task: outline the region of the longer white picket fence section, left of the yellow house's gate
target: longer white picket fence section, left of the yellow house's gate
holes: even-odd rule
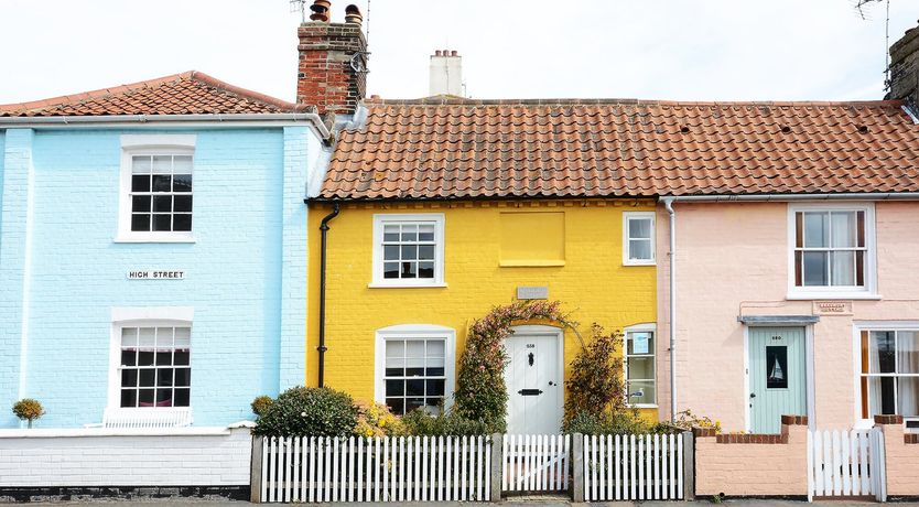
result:
[[[266,438],[260,501],[489,500],[486,436]]]

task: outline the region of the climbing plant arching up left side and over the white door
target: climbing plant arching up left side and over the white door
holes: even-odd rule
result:
[[[561,311],[559,301],[515,301],[494,308],[473,323],[466,336],[466,348],[460,357],[454,410],[465,418],[487,423],[491,431],[505,431],[507,354],[504,341],[510,336],[515,324],[534,321],[572,330],[577,326]]]

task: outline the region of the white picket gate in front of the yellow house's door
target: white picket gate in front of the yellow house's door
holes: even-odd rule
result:
[[[502,492],[566,492],[571,435],[506,434]]]

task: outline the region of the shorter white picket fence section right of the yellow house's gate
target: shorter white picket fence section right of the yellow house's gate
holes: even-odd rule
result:
[[[584,436],[584,499],[683,498],[683,435]]]

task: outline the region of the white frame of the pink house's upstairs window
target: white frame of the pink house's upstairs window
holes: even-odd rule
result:
[[[865,285],[810,285],[798,287],[794,281],[794,252],[797,249],[797,214],[802,212],[863,212],[865,214],[865,256],[864,277]],[[787,269],[788,269],[788,293],[787,300],[878,300],[877,294],[877,242],[874,203],[802,203],[788,205],[788,242]]]

